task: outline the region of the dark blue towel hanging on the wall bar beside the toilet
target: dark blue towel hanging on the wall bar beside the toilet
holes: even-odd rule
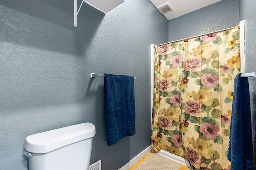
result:
[[[135,134],[134,77],[105,74],[105,127],[108,146]]]

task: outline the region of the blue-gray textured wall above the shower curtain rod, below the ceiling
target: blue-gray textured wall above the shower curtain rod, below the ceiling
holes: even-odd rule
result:
[[[239,0],[222,0],[169,21],[169,42],[234,27]]]

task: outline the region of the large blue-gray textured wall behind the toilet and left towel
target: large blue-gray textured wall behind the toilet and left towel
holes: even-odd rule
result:
[[[106,14],[73,0],[0,1],[0,169],[26,170],[28,135],[91,122],[91,163],[116,170],[150,145],[150,44],[168,41],[168,20],[149,0]],[[78,6],[80,2],[78,2]],[[136,76],[136,135],[108,147],[104,82],[90,72]]]

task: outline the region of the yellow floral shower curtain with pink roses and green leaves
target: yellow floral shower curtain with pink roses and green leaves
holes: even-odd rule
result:
[[[186,158],[194,170],[228,170],[239,28],[154,49],[152,151]]]

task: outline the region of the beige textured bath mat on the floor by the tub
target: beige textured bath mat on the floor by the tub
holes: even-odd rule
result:
[[[150,153],[134,170],[180,170],[178,162],[158,153]]]

